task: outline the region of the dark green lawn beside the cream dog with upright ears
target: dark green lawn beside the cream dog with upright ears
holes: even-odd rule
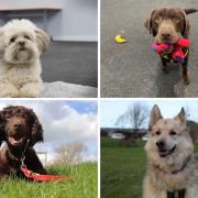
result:
[[[118,140],[101,138],[101,198],[142,197],[144,144],[136,141],[131,147],[119,147]]]

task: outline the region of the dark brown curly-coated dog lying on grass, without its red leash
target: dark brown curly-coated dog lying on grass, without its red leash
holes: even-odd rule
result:
[[[46,174],[33,148],[36,142],[43,141],[43,129],[32,109],[9,106],[0,111],[0,141],[6,141],[0,150],[0,178],[11,174],[23,176],[20,172],[21,162],[14,160],[12,155],[20,160],[26,145],[24,154],[26,167],[35,173]]]

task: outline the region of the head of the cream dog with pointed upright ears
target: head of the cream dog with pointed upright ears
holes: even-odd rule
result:
[[[184,109],[174,119],[163,119],[158,107],[153,107],[145,148],[148,156],[162,158],[193,152],[194,146],[186,130]]]

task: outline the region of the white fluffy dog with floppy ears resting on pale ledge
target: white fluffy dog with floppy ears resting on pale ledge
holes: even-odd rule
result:
[[[50,36],[31,21],[12,20],[0,29],[0,97],[38,97],[40,55]]]

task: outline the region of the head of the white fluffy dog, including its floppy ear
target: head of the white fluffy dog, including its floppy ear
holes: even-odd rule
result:
[[[0,53],[10,64],[35,62],[48,43],[48,35],[29,20],[10,21],[0,30]]]

